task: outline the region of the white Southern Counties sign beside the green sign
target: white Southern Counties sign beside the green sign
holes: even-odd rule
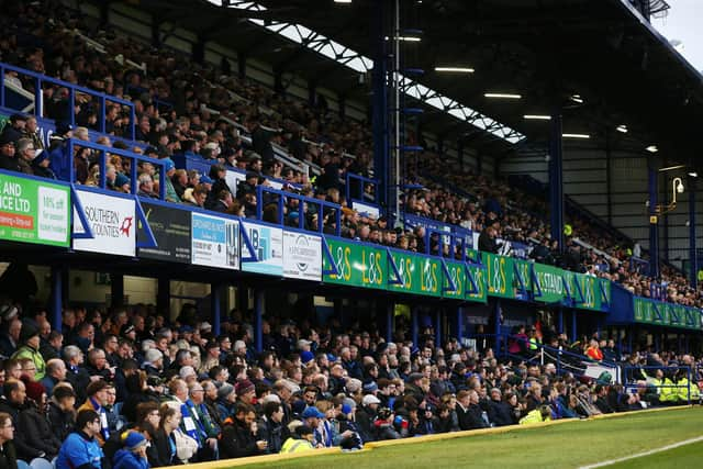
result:
[[[93,237],[74,238],[74,249],[134,256],[136,246],[134,200],[80,189],[76,193]],[[74,234],[82,232],[82,226],[78,222],[78,213],[74,209]]]

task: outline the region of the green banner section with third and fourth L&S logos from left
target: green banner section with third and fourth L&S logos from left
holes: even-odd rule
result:
[[[442,294],[443,272],[439,259],[394,249],[391,250],[391,257],[398,267],[402,282],[389,284],[388,290],[428,297]],[[394,273],[391,273],[390,265],[388,272],[389,280],[399,280],[394,278]]]

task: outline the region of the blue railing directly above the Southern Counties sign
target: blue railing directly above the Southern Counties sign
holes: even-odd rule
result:
[[[138,192],[138,174],[137,165],[140,163],[150,163],[154,167],[158,168],[159,185],[158,185],[158,198],[159,200],[166,200],[166,167],[164,160],[149,158],[148,156],[138,155],[136,153],[126,152],[119,148],[112,148],[104,145],[99,145],[92,142],[83,142],[75,138],[69,138],[67,142],[68,155],[70,158],[74,156],[75,148],[90,148],[98,153],[98,164],[100,165],[100,179],[98,187],[101,189],[108,189],[107,171],[108,155],[118,155],[121,158],[130,160],[130,193],[136,194]],[[125,175],[126,176],[126,175]],[[71,183],[76,183],[76,168],[71,161],[70,165],[70,180]]]

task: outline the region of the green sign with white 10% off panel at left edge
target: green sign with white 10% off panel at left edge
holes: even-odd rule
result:
[[[68,247],[70,190],[0,175],[0,239]]]

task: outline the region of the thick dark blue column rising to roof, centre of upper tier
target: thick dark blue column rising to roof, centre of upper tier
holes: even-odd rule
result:
[[[371,9],[371,43],[373,44],[373,70],[371,74],[371,119],[373,131],[373,174],[380,180],[380,190],[377,191],[378,203],[387,208],[390,202],[392,189],[391,164],[389,152],[389,107],[388,89],[386,80],[388,76],[388,51],[386,36],[389,18],[389,2],[380,1],[377,8]]]

